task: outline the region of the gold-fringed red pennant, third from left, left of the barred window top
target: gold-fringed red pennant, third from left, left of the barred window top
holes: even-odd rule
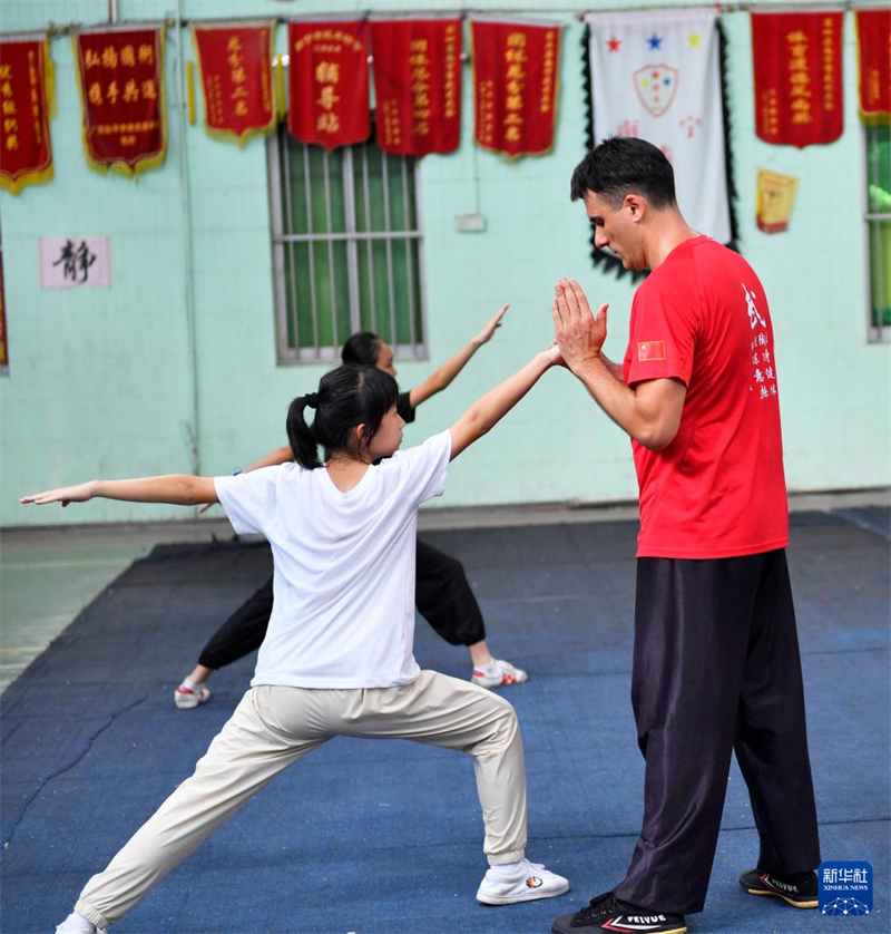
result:
[[[237,139],[275,127],[272,90],[274,22],[202,23],[192,27],[210,136]]]

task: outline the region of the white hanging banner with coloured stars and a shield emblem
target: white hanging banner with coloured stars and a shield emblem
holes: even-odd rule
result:
[[[733,242],[717,11],[591,13],[593,143],[633,136],[672,163],[687,223]],[[617,264],[594,247],[595,262]]]

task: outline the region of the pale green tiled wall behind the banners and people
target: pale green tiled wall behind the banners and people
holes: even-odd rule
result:
[[[175,14],[175,2],[119,0],[121,19]],[[306,13],[315,10],[456,9],[456,2],[187,0],[183,16]],[[547,3],[487,3],[566,22],[557,140],[540,158],[506,159],[472,145],[464,72],[459,150],[422,163],[429,362],[400,366],[411,386],[454,352],[503,301],[505,327],[408,431],[414,444],[446,427],[492,381],[550,340],[549,293],[574,275],[593,301],[609,301],[607,349],[620,358],[633,286],[594,271],[588,224],[568,200],[584,155],[581,25]],[[551,4],[557,6],[557,4]],[[579,11],[596,3],[560,2]],[[638,0],[624,6],[654,6]],[[665,3],[664,6],[674,6]],[[106,0],[4,0],[3,30],[49,21],[95,23]],[[862,138],[855,108],[853,26],[845,22],[845,132],[803,152],[755,138],[747,13],[723,18],[731,43],[730,107],[737,216],[744,255],[770,295],[776,330],[793,490],[889,483],[889,346],[866,342]],[[187,33],[184,33],[187,38]],[[284,51],[285,29],[277,33]],[[138,183],[101,176],[85,162],[68,39],[51,43],[58,116],[56,178],[0,196],[11,367],[0,377],[0,524],[151,519],[184,510],[96,502],[65,513],[17,505],[29,492],[94,476],[187,471],[197,438],[204,473],[227,471],[282,444],[288,400],[314,388],[323,368],[277,367],[273,319],[266,156],[262,140],[239,150],[186,128],[196,353],[186,303],[186,220],[180,175],[176,29],[167,39],[169,146],[163,168]],[[193,57],[190,45],[185,56]],[[754,224],[758,166],[801,178],[786,234]],[[479,210],[482,234],[459,234],[454,215]],[[37,239],[109,234],[112,288],[41,291]],[[197,387],[197,391],[194,391]],[[194,417],[197,400],[197,430]],[[507,422],[456,461],[447,506],[564,499],[630,499],[636,485],[626,437],[565,372],[549,373]]]

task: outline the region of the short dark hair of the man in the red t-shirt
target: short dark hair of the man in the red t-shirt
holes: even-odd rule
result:
[[[594,192],[618,207],[629,192],[642,194],[654,207],[673,207],[675,174],[665,154],[646,139],[610,136],[588,153],[572,173],[570,197]]]

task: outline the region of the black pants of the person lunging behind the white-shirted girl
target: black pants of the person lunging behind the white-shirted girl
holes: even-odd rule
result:
[[[480,605],[461,562],[418,539],[414,603],[433,630],[452,645],[486,639]],[[260,648],[272,614],[272,577],[210,636],[198,664],[218,669]]]

